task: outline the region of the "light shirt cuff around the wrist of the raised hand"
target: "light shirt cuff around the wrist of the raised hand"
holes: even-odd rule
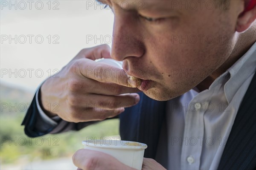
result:
[[[36,91],[36,94],[35,94],[35,101],[36,101],[36,106],[37,106],[37,109],[38,109],[38,112],[41,116],[41,118],[47,122],[49,125],[51,126],[57,126],[58,123],[56,121],[58,121],[59,119],[61,119],[59,116],[53,116],[53,117],[49,117],[47,116],[44,111],[42,110],[41,106],[40,106],[40,103],[39,103],[39,99],[38,99],[38,94],[39,94],[39,91],[40,91],[40,88],[41,86],[38,88],[38,90]]]

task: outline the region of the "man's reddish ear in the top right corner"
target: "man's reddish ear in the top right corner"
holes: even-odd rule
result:
[[[245,0],[244,11],[239,15],[236,23],[236,31],[243,32],[256,19],[256,0]]]

